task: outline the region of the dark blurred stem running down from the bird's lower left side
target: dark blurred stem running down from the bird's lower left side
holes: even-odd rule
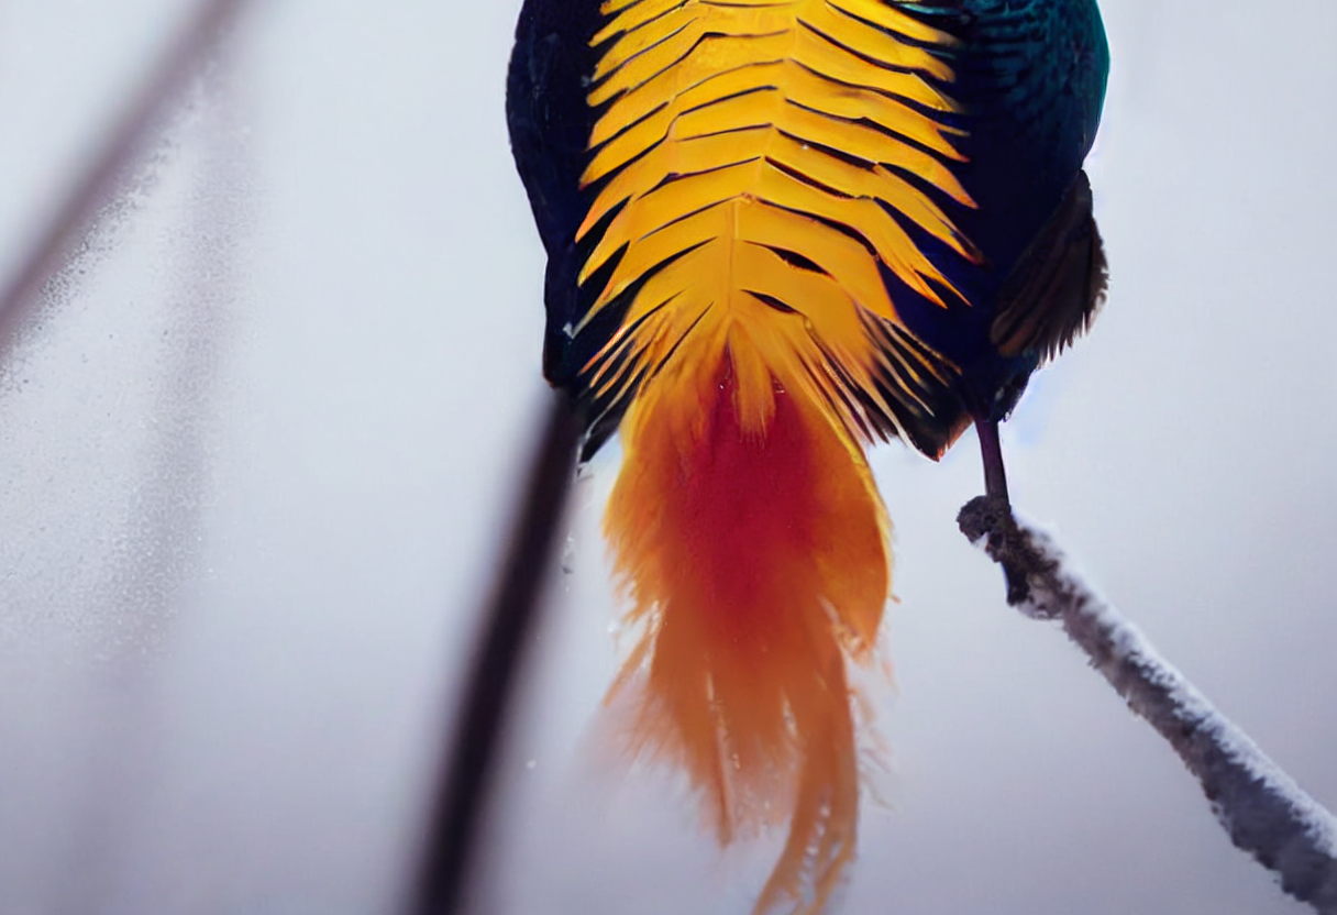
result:
[[[464,907],[503,724],[575,475],[580,423],[568,397],[554,395],[544,427],[441,765],[412,915],[455,915]]]

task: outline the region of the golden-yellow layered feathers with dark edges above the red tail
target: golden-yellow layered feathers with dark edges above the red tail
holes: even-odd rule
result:
[[[592,385],[616,400],[689,368],[674,359],[745,341],[731,350],[754,428],[770,415],[771,375],[850,428],[866,429],[858,404],[898,425],[886,396],[927,411],[917,392],[953,368],[905,330],[881,268],[929,301],[955,293],[902,221],[973,256],[923,185],[971,205],[953,130],[933,116],[955,108],[941,88],[952,71],[933,54],[953,39],[881,0],[602,9],[582,178],[595,199],[578,239],[594,242],[580,281],[608,278],[586,322],[632,301],[587,367]],[[698,344],[685,348],[689,334]],[[897,383],[880,391],[878,376]]]

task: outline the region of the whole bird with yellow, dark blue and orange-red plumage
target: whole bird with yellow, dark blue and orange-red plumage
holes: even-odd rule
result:
[[[543,371],[583,460],[622,445],[607,706],[722,845],[786,831],[758,915],[828,911],[854,860],[852,669],[892,595],[866,448],[973,424],[1007,503],[999,424],[1104,301],[1108,68],[1095,0],[524,0]]]

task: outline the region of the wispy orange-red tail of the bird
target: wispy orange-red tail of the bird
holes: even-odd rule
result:
[[[889,526],[860,443],[734,340],[640,392],[604,530],[643,626],[610,698],[722,844],[789,824],[757,912],[818,912],[854,853],[846,659],[868,661]]]

